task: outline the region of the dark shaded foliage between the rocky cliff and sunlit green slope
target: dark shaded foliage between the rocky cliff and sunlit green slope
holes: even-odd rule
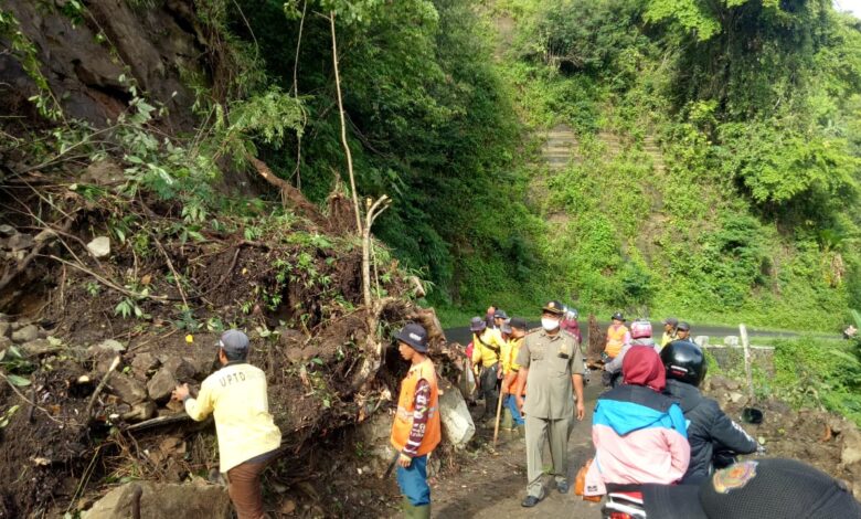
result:
[[[351,6],[352,19],[336,24],[358,191],[394,199],[376,235],[436,285],[438,301],[525,282],[535,258],[524,178],[510,172],[518,121],[488,60],[488,27],[464,0]],[[230,17],[234,33],[258,44],[272,84],[288,91],[296,73],[308,114],[301,150],[298,138],[261,150],[315,201],[346,174],[327,7],[297,3],[286,17],[281,1],[245,0],[244,17]]]

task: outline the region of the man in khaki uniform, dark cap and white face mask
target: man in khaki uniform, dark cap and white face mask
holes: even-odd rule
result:
[[[560,329],[564,307],[559,301],[544,305],[541,328],[530,331],[520,348],[517,363],[518,407],[527,419],[527,498],[521,504],[534,507],[544,498],[541,459],[544,442],[550,445],[552,475],[560,494],[568,491],[568,424],[574,415],[576,393],[577,420],[583,420],[583,356],[576,338]],[[521,394],[529,385],[525,404]],[[573,391],[572,391],[573,389]]]

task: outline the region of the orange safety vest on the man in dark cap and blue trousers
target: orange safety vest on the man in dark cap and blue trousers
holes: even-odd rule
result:
[[[417,455],[424,456],[439,444],[442,427],[439,425],[439,391],[436,383],[436,371],[431,359],[410,368],[401,383],[401,395],[397,398],[397,413],[392,424],[392,446],[398,452],[404,449],[410,439],[410,431],[413,428],[413,412],[415,411],[415,388],[419,380],[426,380],[431,384],[431,402],[427,410],[427,424]]]

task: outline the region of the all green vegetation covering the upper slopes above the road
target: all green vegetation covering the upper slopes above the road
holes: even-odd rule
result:
[[[71,6],[67,17],[86,14]],[[195,8],[217,42],[210,76],[184,74],[196,135],[158,137],[161,105],[124,78],[131,106],[113,127],[62,119],[51,140],[33,139],[54,163],[70,149],[97,158],[94,131],[107,134],[98,141],[123,153],[124,194],[178,201],[183,241],[244,218],[237,206],[266,212],[215,188],[256,174],[249,157],[315,203],[347,179],[331,15],[357,191],[393,199],[374,232],[390,261],[431,282],[447,322],[490,303],[530,313],[559,298],[584,314],[836,330],[861,307],[861,22],[828,0]],[[33,102],[61,125],[38,54],[6,11],[0,31],[38,83]],[[560,124],[575,152],[552,169],[542,135]],[[134,232],[142,223],[124,218],[113,234],[147,254],[151,241]],[[246,239],[266,225],[247,220]],[[137,314],[129,297],[117,313]]]

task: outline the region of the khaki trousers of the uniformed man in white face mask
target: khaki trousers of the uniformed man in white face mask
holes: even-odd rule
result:
[[[568,472],[568,423],[571,419],[546,420],[527,414],[527,494],[539,499],[544,497],[542,454],[544,441],[550,446],[553,462],[551,475],[556,483],[567,481]]]

